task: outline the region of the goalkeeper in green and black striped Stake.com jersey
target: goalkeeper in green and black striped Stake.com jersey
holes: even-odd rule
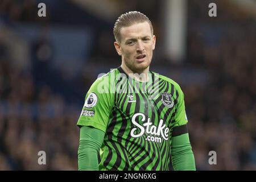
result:
[[[150,71],[156,37],[146,15],[119,16],[114,47],[121,66],[97,78],[85,97],[79,170],[195,170],[184,94]]]

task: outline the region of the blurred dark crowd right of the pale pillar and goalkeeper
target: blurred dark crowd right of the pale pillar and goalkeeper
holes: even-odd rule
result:
[[[197,9],[190,17],[206,11],[199,1],[190,3]],[[197,17],[189,24],[205,30],[210,23],[213,37],[189,32],[189,63],[211,76],[205,85],[183,85],[190,137],[198,169],[256,170],[255,18],[230,3],[224,7],[230,8],[218,5],[221,18]],[[216,151],[217,165],[209,165],[209,151]]]

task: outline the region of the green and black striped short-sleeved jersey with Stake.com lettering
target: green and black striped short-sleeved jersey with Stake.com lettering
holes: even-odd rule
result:
[[[184,95],[170,78],[148,73],[147,82],[122,68],[97,78],[77,122],[105,132],[100,170],[168,170],[172,130],[185,125]]]

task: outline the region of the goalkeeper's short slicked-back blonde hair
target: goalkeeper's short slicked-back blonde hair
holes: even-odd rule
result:
[[[128,13],[124,13],[121,16],[118,17],[118,19],[115,21],[113,34],[115,37],[115,40],[117,42],[120,42],[120,30],[122,27],[129,27],[135,23],[143,23],[148,22],[150,24],[151,34],[153,35],[153,27],[150,19],[147,18],[146,15],[139,11],[129,11]]]

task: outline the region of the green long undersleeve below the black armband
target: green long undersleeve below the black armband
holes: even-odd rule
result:
[[[188,133],[172,138],[172,167],[175,171],[195,171],[195,158]]]

